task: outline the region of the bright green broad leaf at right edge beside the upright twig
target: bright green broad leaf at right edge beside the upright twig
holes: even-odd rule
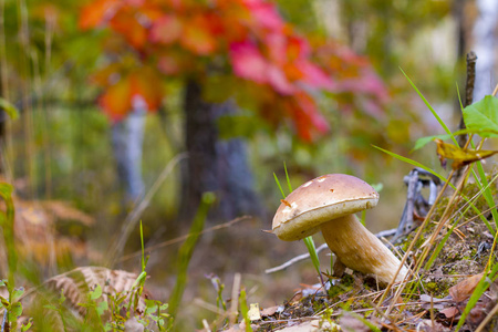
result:
[[[481,131],[481,137],[498,137],[498,98],[487,95],[464,108],[467,128]]]

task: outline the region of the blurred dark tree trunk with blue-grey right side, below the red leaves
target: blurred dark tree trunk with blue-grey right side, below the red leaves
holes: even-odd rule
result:
[[[200,85],[190,80],[184,108],[188,158],[183,168],[181,217],[193,217],[205,191],[214,191],[218,198],[211,214],[214,219],[227,220],[241,214],[261,216],[246,143],[240,138],[218,139],[217,118],[237,113],[236,104],[205,102]]]

